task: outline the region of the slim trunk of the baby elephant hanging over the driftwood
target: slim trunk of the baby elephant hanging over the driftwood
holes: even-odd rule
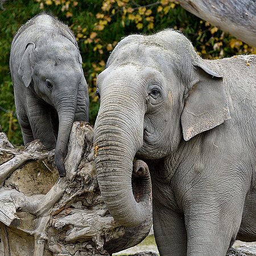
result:
[[[76,97],[76,93],[73,92],[72,97],[69,97],[68,100],[62,98],[62,100],[59,101],[60,103],[56,105],[56,110],[59,115],[59,131],[55,148],[55,163],[60,177],[66,176],[64,159],[67,154],[69,135],[75,118]]]

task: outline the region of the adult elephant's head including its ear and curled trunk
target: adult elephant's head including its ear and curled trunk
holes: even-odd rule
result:
[[[121,224],[139,225],[148,213],[148,183],[134,199],[135,156],[164,158],[229,118],[220,77],[177,31],[127,36],[115,47],[97,78],[94,156],[102,196]]]

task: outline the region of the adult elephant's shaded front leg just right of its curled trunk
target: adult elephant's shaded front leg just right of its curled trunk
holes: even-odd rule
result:
[[[183,214],[172,212],[153,202],[153,225],[160,255],[187,254],[187,233]]]

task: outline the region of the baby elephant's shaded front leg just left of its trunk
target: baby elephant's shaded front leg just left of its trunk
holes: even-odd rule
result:
[[[56,138],[51,124],[51,112],[42,102],[31,101],[28,106],[30,124],[35,139],[39,139],[47,150],[56,146]]]

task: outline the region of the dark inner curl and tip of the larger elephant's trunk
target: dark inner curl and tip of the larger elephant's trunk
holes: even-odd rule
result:
[[[137,203],[147,200],[151,196],[151,179],[147,164],[137,160],[133,164],[133,175],[131,176],[133,196]]]

